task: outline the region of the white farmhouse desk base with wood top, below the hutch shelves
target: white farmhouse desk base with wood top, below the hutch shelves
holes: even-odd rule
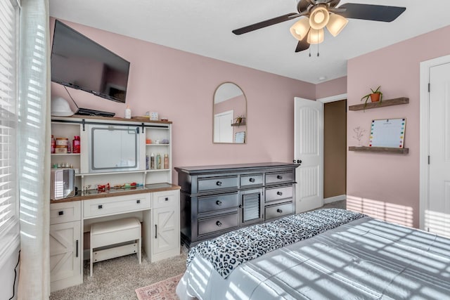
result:
[[[51,292],[83,282],[89,238],[82,237],[89,237],[91,223],[136,216],[142,222],[143,250],[150,262],[179,255],[179,203],[179,186],[168,183],[51,202]]]

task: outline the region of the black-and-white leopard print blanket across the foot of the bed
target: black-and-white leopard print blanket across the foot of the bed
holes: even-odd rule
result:
[[[202,256],[227,278],[241,263],[364,217],[345,209],[319,209],[225,233],[191,248],[187,266]]]

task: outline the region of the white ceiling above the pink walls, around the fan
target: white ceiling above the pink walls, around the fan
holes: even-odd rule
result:
[[[309,50],[295,53],[297,41],[289,32],[299,19],[231,33],[296,13],[296,0],[49,0],[55,18],[313,84],[346,76],[349,58],[450,25],[449,0],[342,0],[338,7],[347,2],[406,11],[393,22],[349,19],[338,37],[326,31],[320,56],[312,45],[309,57]]]

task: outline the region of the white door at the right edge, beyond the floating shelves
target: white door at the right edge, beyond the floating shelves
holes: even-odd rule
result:
[[[425,228],[450,237],[450,63],[430,67],[429,155]]]

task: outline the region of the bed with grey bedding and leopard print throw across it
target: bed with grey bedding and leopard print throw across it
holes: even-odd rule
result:
[[[450,240],[353,211],[319,209],[192,247],[176,294],[181,300],[450,299]]]

